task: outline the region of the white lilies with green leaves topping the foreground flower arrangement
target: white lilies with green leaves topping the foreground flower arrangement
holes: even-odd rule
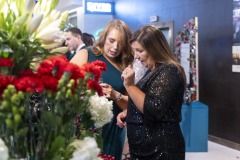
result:
[[[57,4],[58,0],[39,0],[36,4],[33,0],[0,0],[0,57],[15,62],[13,74],[28,68],[33,58],[67,51],[61,47],[61,28],[68,12],[54,10]]]

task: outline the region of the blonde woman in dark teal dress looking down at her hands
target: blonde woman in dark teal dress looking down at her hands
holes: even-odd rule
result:
[[[106,72],[102,73],[102,88],[104,96],[113,100],[112,121],[102,129],[103,154],[110,154],[121,160],[125,140],[125,129],[116,125],[116,116],[126,109],[128,97],[123,86],[121,74],[133,62],[133,54],[129,40],[131,31],[121,20],[112,20],[104,28],[96,46],[80,50],[71,60],[79,66],[94,60],[104,61]]]

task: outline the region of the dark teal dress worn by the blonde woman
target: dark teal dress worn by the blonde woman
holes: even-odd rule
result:
[[[100,60],[106,63],[107,70],[102,72],[103,82],[111,85],[114,90],[124,93],[125,87],[121,79],[121,72],[116,69],[108,60],[103,56],[95,56],[93,52],[99,52],[96,47],[87,48],[88,50],[88,62]],[[113,118],[110,123],[106,124],[102,128],[103,138],[103,154],[110,154],[114,156],[116,160],[121,160],[124,141],[125,141],[125,129],[116,125],[117,115],[122,111],[115,102],[113,102]]]

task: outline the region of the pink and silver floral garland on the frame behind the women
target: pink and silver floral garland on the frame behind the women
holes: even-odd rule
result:
[[[180,31],[176,37],[176,48],[175,48],[175,56],[178,58],[178,60],[181,60],[181,44],[189,43],[190,44],[190,58],[188,59],[190,61],[190,84],[188,84],[187,92],[186,94],[189,94],[188,101],[194,101],[196,100],[196,90],[197,90],[197,66],[196,66],[196,33],[197,33],[197,25],[195,18],[190,19],[188,22],[186,22],[183,26],[183,30]],[[188,73],[186,73],[188,74]]]

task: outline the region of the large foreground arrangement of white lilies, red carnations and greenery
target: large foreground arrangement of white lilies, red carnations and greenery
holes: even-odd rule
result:
[[[62,55],[67,12],[57,2],[0,1],[0,159],[102,156],[101,127],[112,118],[98,83],[106,64],[79,67]]]

